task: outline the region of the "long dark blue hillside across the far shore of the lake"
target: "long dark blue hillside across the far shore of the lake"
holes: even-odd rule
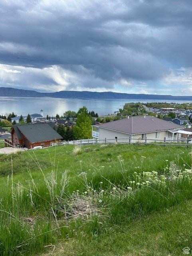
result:
[[[91,98],[91,99],[138,99],[138,100],[188,100],[192,101],[192,96],[172,96],[155,94],[127,94],[117,92],[36,92],[32,90],[22,90],[15,88],[0,87],[0,96],[9,97],[52,97],[52,98]]]

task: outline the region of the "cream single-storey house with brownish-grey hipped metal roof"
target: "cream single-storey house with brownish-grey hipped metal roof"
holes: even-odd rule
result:
[[[121,120],[92,126],[92,136],[103,142],[130,142],[148,140],[177,140],[184,127],[153,116],[131,116]]]

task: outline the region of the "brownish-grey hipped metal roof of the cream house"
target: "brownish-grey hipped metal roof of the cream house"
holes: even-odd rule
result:
[[[178,124],[173,124],[153,116],[131,116],[95,126],[128,134],[143,134],[183,128]]]

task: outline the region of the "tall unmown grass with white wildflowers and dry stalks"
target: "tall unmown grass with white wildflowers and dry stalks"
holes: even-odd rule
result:
[[[152,154],[157,150],[161,156]],[[11,175],[0,186],[0,255],[36,254],[59,239],[99,236],[113,225],[123,229],[135,218],[191,199],[191,154],[177,151],[117,144],[85,147],[79,154],[63,147],[58,155],[63,152],[65,161],[50,149],[44,170],[42,150],[27,155],[38,172],[28,169],[23,181],[14,176],[13,157]]]

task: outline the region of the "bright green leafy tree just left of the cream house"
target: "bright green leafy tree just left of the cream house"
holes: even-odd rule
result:
[[[79,108],[79,111],[77,112],[77,121],[73,129],[77,140],[92,137],[91,116],[89,116],[85,106]]]

